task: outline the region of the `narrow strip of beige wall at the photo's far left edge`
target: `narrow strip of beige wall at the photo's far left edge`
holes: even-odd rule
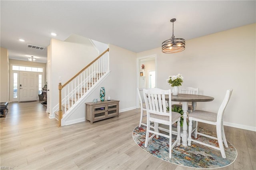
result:
[[[9,101],[9,61],[8,51],[1,47],[0,56],[0,102]]]

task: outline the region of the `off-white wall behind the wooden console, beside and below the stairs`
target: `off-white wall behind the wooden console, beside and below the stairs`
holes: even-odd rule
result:
[[[93,99],[100,101],[100,87],[105,87],[105,100],[110,95],[112,100],[119,100],[120,112],[136,107],[136,53],[109,45],[110,75],[92,92],[84,103]],[[85,120],[85,105],[76,109],[67,121]]]

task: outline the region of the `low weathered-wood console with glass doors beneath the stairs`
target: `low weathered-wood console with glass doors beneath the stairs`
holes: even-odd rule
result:
[[[86,121],[90,124],[110,117],[119,117],[119,101],[98,101],[97,103],[85,103]]]

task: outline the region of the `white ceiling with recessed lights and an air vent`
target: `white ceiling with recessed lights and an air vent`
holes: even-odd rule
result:
[[[256,22],[256,1],[0,1],[1,47],[10,59],[46,63],[51,38],[77,34],[134,52],[172,36],[190,40]],[[57,36],[51,36],[51,32]],[[240,38],[238,36],[238,38]],[[20,42],[24,39],[25,42]],[[27,44],[46,47],[31,49]]]

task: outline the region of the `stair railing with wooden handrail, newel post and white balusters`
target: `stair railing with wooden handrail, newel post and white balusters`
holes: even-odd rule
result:
[[[61,127],[62,102],[70,109],[105,73],[109,71],[109,48],[63,85],[59,83],[58,127]],[[62,95],[64,97],[62,98]]]

